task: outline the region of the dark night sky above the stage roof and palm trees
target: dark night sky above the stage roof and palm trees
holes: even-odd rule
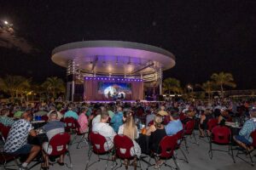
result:
[[[14,24],[14,41],[21,42],[0,47],[0,76],[65,78],[66,70],[50,60],[53,48],[83,39],[120,40],[171,51],[177,65],[164,76],[183,85],[229,71],[237,88],[256,86],[255,0],[9,0],[0,3],[0,20]],[[29,52],[23,50],[28,44]]]

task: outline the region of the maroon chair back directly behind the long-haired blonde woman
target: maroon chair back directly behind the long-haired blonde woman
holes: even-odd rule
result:
[[[119,156],[122,159],[128,159],[131,158],[131,147],[133,147],[132,140],[125,136],[117,134],[113,138],[113,144],[116,150],[116,155]]]

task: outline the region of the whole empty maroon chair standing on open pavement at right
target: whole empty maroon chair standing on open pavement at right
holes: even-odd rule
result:
[[[234,163],[236,163],[234,154],[233,154],[232,144],[231,144],[231,131],[229,127],[224,127],[224,126],[213,127],[209,144],[210,144],[210,150],[208,151],[208,153],[211,159],[212,159],[212,151],[213,151],[212,144],[228,145],[229,146],[228,151],[226,150],[218,150],[218,151],[228,152],[229,154],[231,151],[231,157]]]

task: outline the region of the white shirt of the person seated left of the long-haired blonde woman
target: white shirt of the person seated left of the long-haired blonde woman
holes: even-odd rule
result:
[[[100,133],[104,136],[107,142],[104,144],[104,150],[109,150],[113,148],[113,137],[116,133],[113,131],[113,127],[110,127],[108,123],[105,122],[96,122],[92,124],[92,132]]]

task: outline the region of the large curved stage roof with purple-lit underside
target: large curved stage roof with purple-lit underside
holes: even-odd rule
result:
[[[175,65],[175,56],[163,48],[121,41],[67,43],[55,48],[51,59],[63,67],[74,60],[82,72],[102,75],[147,75]]]

